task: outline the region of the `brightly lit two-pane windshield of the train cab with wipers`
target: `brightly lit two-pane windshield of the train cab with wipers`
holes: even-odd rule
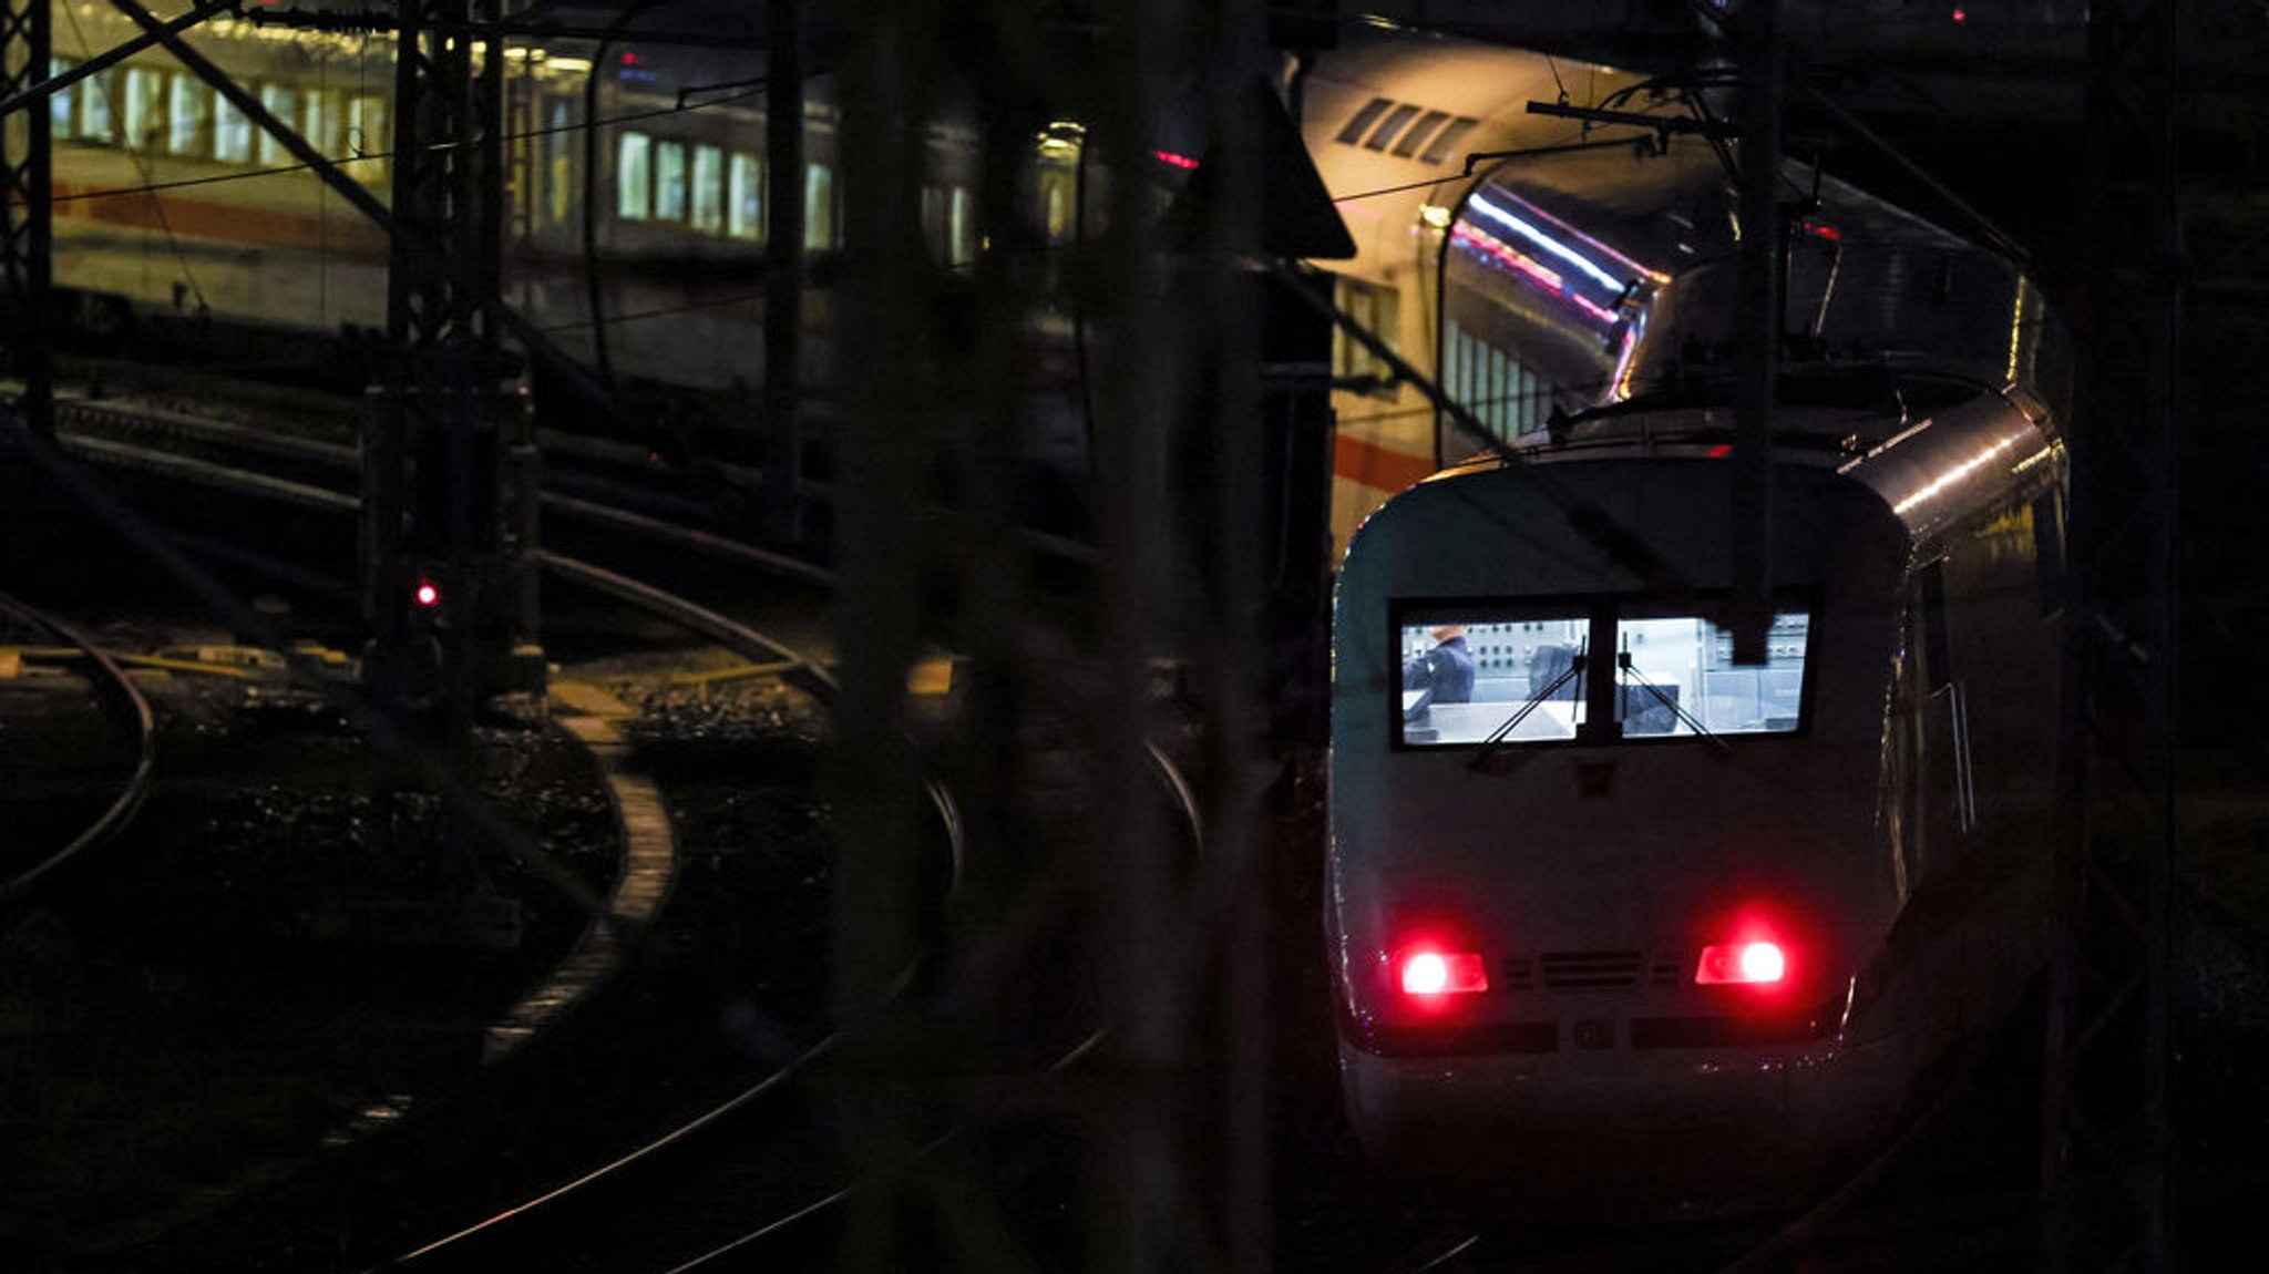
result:
[[[1795,732],[1811,608],[1774,610],[1765,664],[1736,664],[1720,619],[1722,608],[1709,603],[1613,598],[1398,608],[1395,741],[1470,748]]]

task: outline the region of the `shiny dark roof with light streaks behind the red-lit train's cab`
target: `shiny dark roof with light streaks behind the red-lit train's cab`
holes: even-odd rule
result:
[[[1781,175],[1777,360],[1797,406],[1872,397],[1904,415],[1940,383],[2063,401],[2067,338],[2017,263],[1808,163]],[[1566,413],[1731,401],[1740,238],[1738,184],[1706,138],[1509,159],[1454,213],[1448,317],[1518,351]]]

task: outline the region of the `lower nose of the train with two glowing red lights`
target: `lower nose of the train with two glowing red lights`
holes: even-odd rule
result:
[[[1595,886],[1493,880],[1384,918],[1341,1020],[1375,1158],[1525,1215],[1684,1217],[1793,1206],[1883,1136],[1901,1043],[1845,1038],[1827,902],[1593,861]]]

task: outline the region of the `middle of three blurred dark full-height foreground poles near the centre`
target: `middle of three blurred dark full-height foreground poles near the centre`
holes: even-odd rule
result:
[[[1155,705],[1150,657],[1159,630],[1169,564],[1178,535],[1175,490],[1166,483],[1166,440],[1175,406],[1191,385],[1187,349],[1166,311],[1166,270],[1157,211],[1141,175],[1144,145],[1157,127],[1157,93],[1173,50],[1189,34],[1189,5],[1164,0],[1139,16],[1119,11],[1103,29],[1096,79],[1096,127],[1110,184],[1105,220],[1114,252],[1098,261],[1098,301],[1110,304],[1096,351],[1094,474],[1098,540],[1096,580],[1105,698],[1094,721],[1100,793],[1089,889],[1103,920],[1098,1002],[1107,1022],[1107,1070],[1114,1099],[1091,1109],[1096,1165],[1087,1186],[1089,1267],[1098,1274],[1150,1274],[1196,1267],[1191,1181],[1180,1161],[1187,1133],[1178,1104],[1189,1061],[1187,1002],[1193,916],[1178,902],[1159,802],[1146,784]]]

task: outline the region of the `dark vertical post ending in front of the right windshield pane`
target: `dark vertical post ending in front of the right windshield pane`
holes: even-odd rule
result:
[[[1734,422],[1734,662],[1763,664],[1772,628],[1772,394],[1781,345],[1781,32],[1779,0],[1743,0],[1740,338]]]

